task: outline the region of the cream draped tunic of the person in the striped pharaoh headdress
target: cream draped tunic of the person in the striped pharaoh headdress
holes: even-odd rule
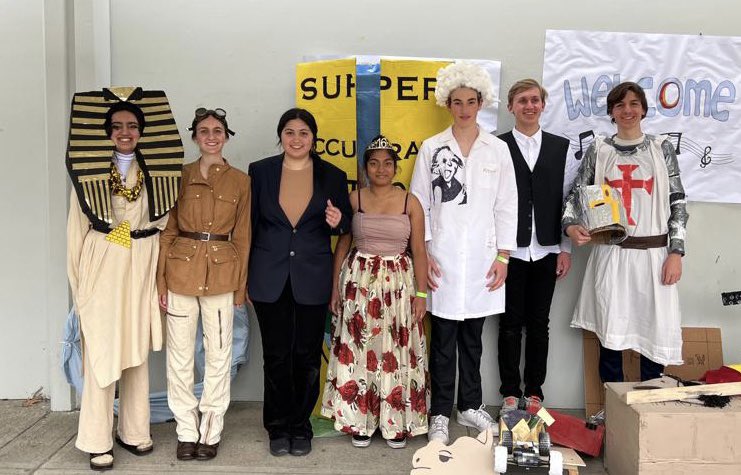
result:
[[[127,185],[136,183],[139,166],[131,164]],[[131,186],[131,185],[128,185]],[[129,221],[131,229],[160,230],[169,215],[149,221],[147,188],[133,202],[111,196],[112,227]],[[132,239],[131,248],[106,240],[90,228],[72,190],[67,221],[67,275],[89,352],[85,359],[99,387],[121,377],[121,371],[141,365],[152,348],[162,348],[162,324],[157,300],[159,234]]]

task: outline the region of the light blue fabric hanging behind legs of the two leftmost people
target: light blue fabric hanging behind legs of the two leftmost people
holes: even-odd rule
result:
[[[253,314],[251,306],[241,305],[234,307],[234,333],[232,336],[232,367],[231,379],[237,376],[239,368],[249,361],[250,320]],[[203,379],[205,368],[205,349],[203,347],[203,326],[199,319],[196,332],[196,355],[195,364],[200,379]],[[82,351],[80,343],[79,319],[75,314],[74,307],[67,315],[67,323],[64,327],[64,341],[62,341],[62,371],[67,382],[75,387],[77,394],[82,394]],[[203,394],[203,383],[198,382],[193,386],[193,393],[197,399]],[[167,406],[167,391],[151,393],[149,395],[150,420],[152,423],[166,422],[173,418],[170,408]],[[113,402],[113,412],[118,414],[118,399]]]

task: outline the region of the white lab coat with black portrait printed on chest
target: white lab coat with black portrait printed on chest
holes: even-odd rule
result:
[[[459,166],[450,168],[445,147]],[[486,274],[498,251],[517,248],[517,183],[507,145],[479,131],[463,157],[449,127],[422,143],[411,191],[422,204],[428,252],[442,273],[437,290],[428,292],[427,309],[449,320],[502,313],[504,286],[490,292]]]

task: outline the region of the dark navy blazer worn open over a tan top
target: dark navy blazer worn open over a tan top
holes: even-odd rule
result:
[[[345,172],[314,157],[314,191],[296,227],[278,202],[283,154],[251,163],[252,249],[248,291],[250,299],[278,300],[291,279],[293,297],[303,305],[329,303],[332,292],[330,236],[350,231],[352,207]],[[331,229],[325,221],[327,200],[342,211]]]

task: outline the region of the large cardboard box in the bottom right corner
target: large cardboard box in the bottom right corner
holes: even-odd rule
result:
[[[608,383],[605,468],[610,475],[741,473],[741,397],[723,409],[680,402],[634,404],[632,383]]]

